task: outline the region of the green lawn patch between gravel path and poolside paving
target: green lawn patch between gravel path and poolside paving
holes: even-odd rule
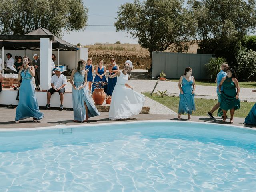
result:
[[[147,97],[159,102],[160,104],[170,108],[171,110],[178,113],[179,101],[180,98],[176,96],[164,96],[163,98],[160,95],[154,93],[152,96],[150,93],[144,93]],[[195,116],[207,116],[207,113],[212,109],[212,107],[217,103],[217,100],[214,99],[202,99],[195,98],[196,111],[192,113]],[[240,102],[240,109],[236,110],[234,117],[243,117],[245,118],[250,112],[254,102]],[[214,112],[213,116],[217,116],[217,111]],[[230,112],[228,112],[230,116]]]

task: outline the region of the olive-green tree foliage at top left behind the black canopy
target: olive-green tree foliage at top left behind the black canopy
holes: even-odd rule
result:
[[[22,35],[39,27],[61,37],[62,30],[84,30],[88,8],[82,0],[1,0],[0,34]]]

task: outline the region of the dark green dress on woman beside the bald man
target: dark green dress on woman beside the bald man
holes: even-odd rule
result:
[[[232,78],[227,77],[226,80],[224,80],[223,84],[223,90],[221,92],[221,103],[220,103],[220,108],[218,110],[218,116],[222,116],[223,110],[230,110],[230,109],[235,109],[238,110],[240,109],[240,100],[236,99],[236,85],[232,81]]]

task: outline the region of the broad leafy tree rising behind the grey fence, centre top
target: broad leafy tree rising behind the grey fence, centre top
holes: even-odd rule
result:
[[[138,43],[152,51],[164,51],[171,44],[182,46],[179,42],[188,40],[189,22],[182,8],[183,0],[145,0],[126,3],[119,7],[116,31],[126,31],[138,39]]]

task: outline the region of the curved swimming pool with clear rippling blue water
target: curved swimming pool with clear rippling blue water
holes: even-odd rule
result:
[[[0,131],[0,191],[255,191],[255,138],[175,121]]]

